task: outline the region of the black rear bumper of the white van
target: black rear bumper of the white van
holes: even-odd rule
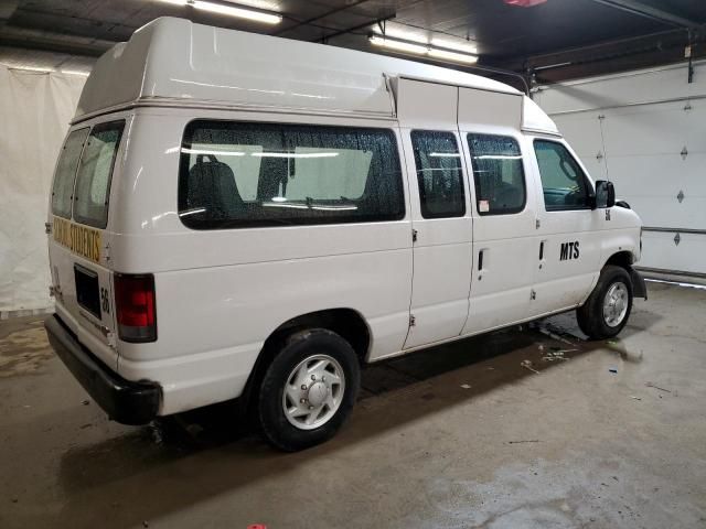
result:
[[[83,347],[56,315],[44,321],[49,342],[108,417],[122,424],[147,424],[159,412],[162,388],[157,382],[125,380]]]

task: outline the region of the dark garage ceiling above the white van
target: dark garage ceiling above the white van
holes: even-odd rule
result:
[[[706,34],[706,1],[696,0],[547,0],[533,8],[511,7],[503,0],[237,3],[281,13],[284,20],[276,26],[263,26],[159,0],[4,0],[0,6],[0,45],[6,51],[0,58],[10,55],[11,48],[50,52],[54,58],[97,56],[161,15],[379,53],[366,35],[378,21],[386,20],[389,28],[410,35],[469,41],[481,54],[480,64],[515,71],[538,67],[535,75],[566,78],[677,61],[688,42],[694,44],[694,55],[700,55]],[[680,28],[674,19],[691,28]],[[611,44],[617,40],[623,43],[618,50]],[[591,47],[586,51],[585,46]],[[31,61],[36,63],[36,57]],[[545,68],[549,63],[570,64]]]

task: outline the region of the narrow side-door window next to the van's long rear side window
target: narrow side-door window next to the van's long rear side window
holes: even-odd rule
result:
[[[424,218],[466,215],[461,155],[451,132],[414,130],[419,201]]]

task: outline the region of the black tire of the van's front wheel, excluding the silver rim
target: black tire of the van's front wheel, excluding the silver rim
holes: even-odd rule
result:
[[[609,290],[617,283],[622,283],[628,291],[628,310],[616,325],[609,325],[603,315],[603,302]],[[588,296],[586,303],[576,310],[576,320],[581,332],[591,339],[606,339],[617,336],[628,323],[632,311],[632,281],[624,268],[608,264],[598,278],[598,283]]]

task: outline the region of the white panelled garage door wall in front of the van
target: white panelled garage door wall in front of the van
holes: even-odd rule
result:
[[[684,63],[552,85],[534,99],[642,217],[640,266],[706,278],[706,63],[691,84]]]

